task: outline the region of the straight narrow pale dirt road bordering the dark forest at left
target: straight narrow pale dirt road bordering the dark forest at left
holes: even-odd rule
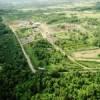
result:
[[[34,66],[33,66],[33,64],[32,64],[32,62],[31,62],[31,60],[30,60],[30,57],[29,57],[29,55],[26,53],[26,51],[25,51],[25,49],[24,49],[24,47],[23,47],[23,45],[22,45],[22,43],[21,43],[21,41],[20,41],[20,39],[19,39],[17,33],[15,32],[15,29],[14,29],[12,26],[9,26],[9,27],[10,27],[10,29],[12,29],[14,35],[16,36],[16,38],[17,38],[17,40],[18,40],[18,42],[19,42],[19,44],[20,44],[20,47],[21,47],[21,49],[22,49],[22,52],[23,52],[23,54],[24,54],[24,56],[25,56],[25,58],[26,58],[26,60],[27,60],[27,63],[28,63],[28,65],[29,65],[31,71],[32,71],[33,73],[36,73],[36,70],[35,70],[35,68],[34,68]]]

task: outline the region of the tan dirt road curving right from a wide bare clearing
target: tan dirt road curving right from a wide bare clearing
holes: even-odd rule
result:
[[[80,66],[80,67],[82,67],[83,69],[89,70],[89,71],[91,71],[91,72],[94,72],[94,69],[88,68],[88,67],[86,67],[85,65],[78,63],[72,56],[67,55],[66,52],[65,52],[62,48],[60,48],[59,46],[55,45],[54,40],[53,40],[53,37],[52,37],[52,35],[51,35],[51,32],[52,32],[52,31],[49,29],[49,27],[48,27],[46,24],[41,24],[41,25],[40,25],[40,31],[41,31],[42,37],[43,37],[44,39],[46,39],[50,44],[52,44],[52,46],[55,48],[55,50],[60,51],[60,53],[61,53],[62,55],[67,56],[68,59],[69,59],[71,62],[75,63],[76,65],[78,65],[78,66]]]

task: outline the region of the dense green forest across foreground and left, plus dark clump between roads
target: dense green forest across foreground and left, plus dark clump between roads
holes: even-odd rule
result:
[[[42,42],[42,41],[41,41]],[[38,59],[39,42],[34,50]],[[46,45],[46,46],[49,46]],[[43,52],[43,51],[41,51]],[[46,54],[47,55],[47,54]],[[47,60],[47,58],[45,58]],[[45,61],[46,62],[46,61]],[[0,18],[0,100],[99,100],[100,73],[38,71],[32,74],[20,46]]]

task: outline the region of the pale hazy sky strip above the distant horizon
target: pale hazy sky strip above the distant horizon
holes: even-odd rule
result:
[[[0,0],[0,8],[57,4],[70,0]]]

